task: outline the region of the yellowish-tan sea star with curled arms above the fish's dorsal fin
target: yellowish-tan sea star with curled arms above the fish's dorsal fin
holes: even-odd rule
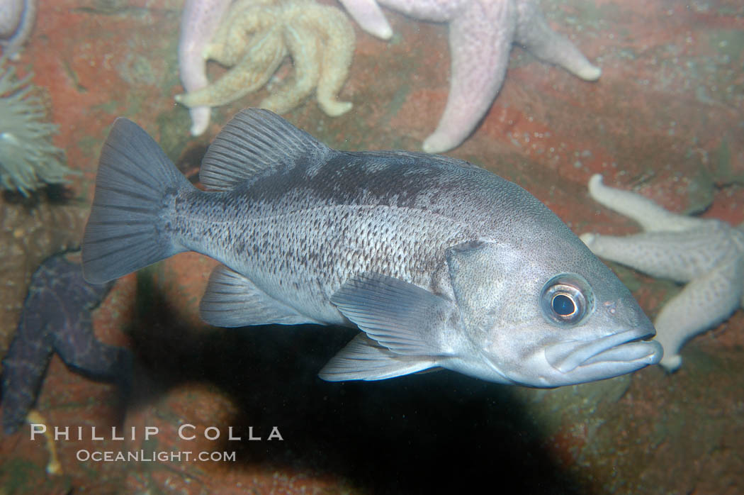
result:
[[[328,115],[341,115],[352,103],[337,100],[354,53],[354,30],[336,7],[312,0],[238,0],[222,19],[205,58],[231,67],[205,88],[177,95],[185,106],[219,106],[264,86],[292,57],[295,77],[272,91],[260,106],[288,112],[316,88]]]

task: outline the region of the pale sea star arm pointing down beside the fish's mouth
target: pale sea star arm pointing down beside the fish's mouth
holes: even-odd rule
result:
[[[674,371],[682,364],[679,350],[693,336],[731,316],[742,302],[744,261],[721,264],[705,277],[687,284],[658,314],[656,339],[664,348],[661,365]]]

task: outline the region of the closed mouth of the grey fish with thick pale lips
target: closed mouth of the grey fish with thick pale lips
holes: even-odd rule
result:
[[[545,349],[545,358],[563,374],[591,369],[609,378],[661,361],[664,354],[661,344],[644,340],[654,335],[653,328],[640,327],[591,342],[560,342]]]

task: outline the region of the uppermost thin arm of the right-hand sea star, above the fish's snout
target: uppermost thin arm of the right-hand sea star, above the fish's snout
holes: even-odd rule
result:
[[[674,214],[640,194],[604,185],[599,173],[589,179],[589,196],[601,205],[632,218],[645,231],[684,231],[700,225],[699,219]]]

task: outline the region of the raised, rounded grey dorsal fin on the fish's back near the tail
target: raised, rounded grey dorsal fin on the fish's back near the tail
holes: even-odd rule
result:
[[[209,146],[199,180],[212,191],[228,191],[266,170],[314,164],[331,148],[266,109],[241,110]]]

